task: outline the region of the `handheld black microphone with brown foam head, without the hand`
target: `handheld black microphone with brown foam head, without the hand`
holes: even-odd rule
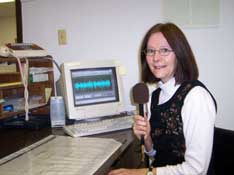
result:
[[[144,117],[144,104],[149,100],[149,89],[145,83],[137,83],[132,93],[134,103],[139,104],[139,114]],[[144,136],[141,136],[141,145],[144,145]]]

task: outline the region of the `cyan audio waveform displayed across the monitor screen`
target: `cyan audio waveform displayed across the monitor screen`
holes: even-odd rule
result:
[[[74,84],[74,87],[76,90],[104,89],[111,87],[111,81],[99,80],[99,81],[76,82]]]

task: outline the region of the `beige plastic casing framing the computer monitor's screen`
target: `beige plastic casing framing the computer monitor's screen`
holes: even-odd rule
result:
[[[72,80],[70,70],[97,67],[114,67],[118,85],[119,101],[110,103],[100,103],[88,106],[75,106],[72,92]],[[61,65],[61,91],[66,106],[66,115],[69,119],[86,120],[111,116],[124,111],[124,95],[122,85],[121,65],[116,60],[81,60],[75,62],[64,62]]]

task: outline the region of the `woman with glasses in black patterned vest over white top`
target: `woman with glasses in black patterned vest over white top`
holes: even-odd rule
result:
[[[216,102],[198,81],[198,68],[183,32],[172,23],[156,24],[141,47],[142,80],[158,83],[150,116],[134,117],[134,134],[144,136],[145,153],[154,157],[149,174],[207,174]],[[145,175],[147,169],[118,169],[109,175]]]

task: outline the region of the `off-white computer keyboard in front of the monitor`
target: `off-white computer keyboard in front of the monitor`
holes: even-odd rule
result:
[[[72,137],[95,135],[132,128],[133,115],[115,116],[97,121],[80,122],[63,127]]]

